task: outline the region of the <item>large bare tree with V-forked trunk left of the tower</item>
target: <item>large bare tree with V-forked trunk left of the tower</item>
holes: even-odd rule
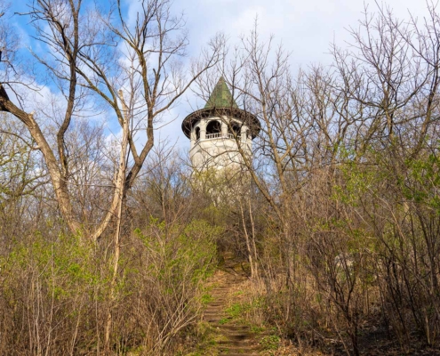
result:
[[[202,53],[188,76],[182,61],[188,44],[184,19],[172,15],[171,3],[142,1],[134,23],[125,20],[121,6],[116,2],[115,12],[100,12],[98,8],[83,9],[82,1],[30,4],[28,15],[36,26],[37,39],[50,51],[47,57],[36,58],[59,85],[65,100],[56,148],[44,134],[38,113],[28,113],[10,99],[6,90],[13,85],[3,83],[0,87],[0,109],[12,113],[28,127],[44,156],[60,212],[73,232],[84,231],[85,227],[75,214],[69,191],[70,153],[66,150],[69,127],[76,117],[87,115],[84,108],[87,95],[100,98],[116,116],[123,140],[126,136],[129,145],[124,159],[130,161],[126,168],[123,161],[118,162],[107,212],[92,229],[84,231],[91,239],[98,239],[117,215],[120,200],[131,189],[154,145],[157,120],[172,108],[196,77],[220,60],[222,39],[217,38],[210,44],[211,51]],[[128,125],[124,125],[119,90],[126,94]],[[146,134],[147,140],[139,148],[137,140],[142,134]]]

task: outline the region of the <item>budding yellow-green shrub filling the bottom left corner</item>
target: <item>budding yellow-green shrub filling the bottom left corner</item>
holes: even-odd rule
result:
[[[38,337],[51,335],[52,344],[38,344],[41,353],[43,348],[62,353],[62,344],[92,352],[91,339],[108,303],[106,267],[96,257],[96,246],[77,235],[36,232],[13,241],[12,250],[0,257],[0,307],[4,325],[16,327],[0,335],[2,350],[8,345],[26,354]]]

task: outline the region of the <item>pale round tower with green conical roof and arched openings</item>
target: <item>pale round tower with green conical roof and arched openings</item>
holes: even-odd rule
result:
[[[204,109],[185,117],[182,131],[191,141],[189,157],[197,171],[241,166],[244,154],[252,155],[252,140],[260,121],[239,109],[223,77],[215,85]]]

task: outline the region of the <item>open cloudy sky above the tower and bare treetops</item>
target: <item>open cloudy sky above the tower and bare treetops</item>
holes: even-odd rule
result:
[[[105,4],[105,0],[98,1]],[[12,11],[25,11],[25,3],[14,2]],[[137,3],[138,0],[125,0],[127,11],[135,12]],[[378,4],[388,5],[402,19],[409,19],[411,14],[422,20],[427,14],[424,0],[387,0]],[[184,12],[187,18],[189,56],[196,56],[218,32],[225,33],[230,44],[237,43],[258,18],[260,36],[275,36],[275,42],[292,53],[294,72],[311,64],[329,64],[329,44],[344,46],[350,40],[348,28],[358,26],[364,6],[372,12],[377,9],[377,4],[369,0],[175,0],[173,9]],[[34,40],[28,36],[26,20],[18,18],[16,24],[25,42],[32,46]],[[167,138],[180,150],[189,148],[188,139],[180,130],[181,121],[194,109],[188,101],[192,101],[190,93],[170,112],[169,124],[158,130],[161,139]]]

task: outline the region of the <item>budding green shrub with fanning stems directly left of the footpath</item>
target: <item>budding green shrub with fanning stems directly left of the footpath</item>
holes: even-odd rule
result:
[[[155,311],[150,319],[140,322],[144,323],[142,328],[157,330],[157,335],[156,331],[148,335],[157,339],[156,344],[172,343],[188,331],[203,304],[212,299],[205,280],[216,267],[220,233],[222,229],[203,220],[166,224],[155,218],[134,231],[143,268],[131,280],[138,293],[145,295],[143,308]]]

